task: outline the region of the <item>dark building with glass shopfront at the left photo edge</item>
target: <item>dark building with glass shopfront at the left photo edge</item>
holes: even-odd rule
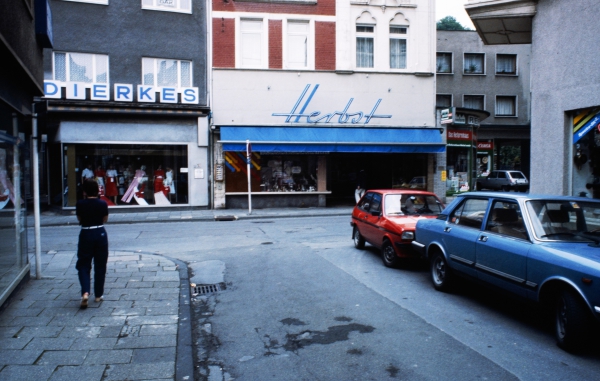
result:
[[[33,97],[43,91],[42,50],[52,44],[46,0],[0,5],[0,306],[29,278],[26,212]]]

